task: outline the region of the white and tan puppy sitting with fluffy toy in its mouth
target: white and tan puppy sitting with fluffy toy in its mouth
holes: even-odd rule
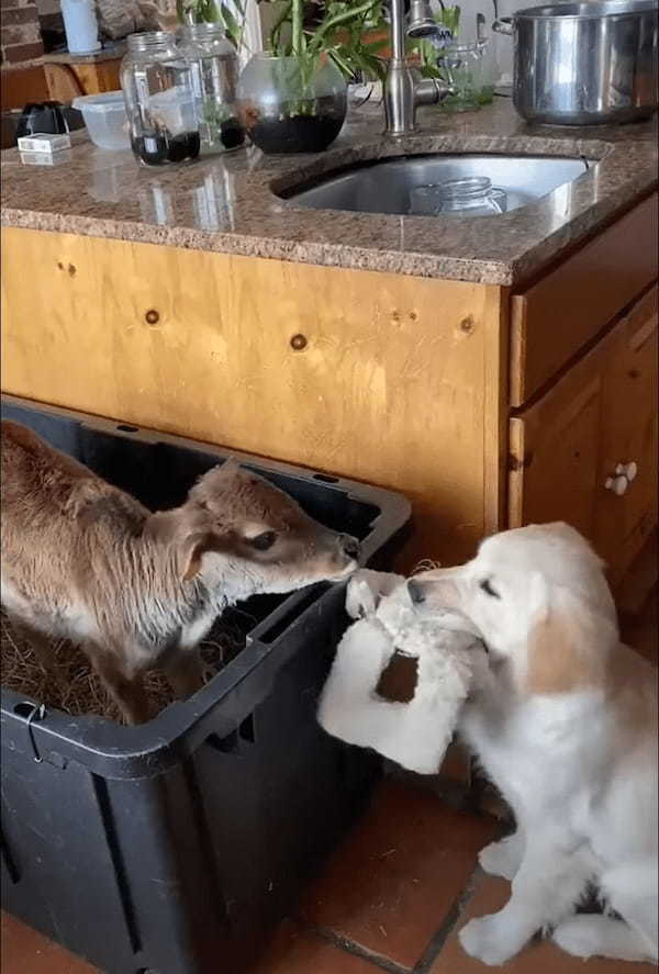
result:
[[[657,961],[657,670],[619,642],[600,560],[567,525],[530,526],[409,591],[422,615],[465,613],[490,652],[460,732],[517,830],[480,853],[512,895],[460,931],[467,953],[505,964],[550,929],[576,956]],[[608,913],[579,915],[593,883]]]

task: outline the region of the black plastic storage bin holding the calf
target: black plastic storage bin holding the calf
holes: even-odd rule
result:
[[[2,414],[150,507],[230,452],[4,396]],[[387,491],[231,452],[390,566]],[[104,974],[242,974],[359,813],[378,760],[315,720],[344,586],[264,598],[245,649],[141,727],[2,691],[2,905]],[[30,714],[33,714],[29,719]]]

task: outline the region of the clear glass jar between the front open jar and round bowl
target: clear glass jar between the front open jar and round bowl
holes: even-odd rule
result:
[[[245,132],[238,121],[238,55],[216,23],[186,24],[179,49],[190,66],[202,149],[239,148]]]

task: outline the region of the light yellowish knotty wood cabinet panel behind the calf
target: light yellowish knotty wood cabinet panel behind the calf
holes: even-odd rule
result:
[[[399,490],[406,567],[500,526],[499,289],[24,229],[3,260],[4,391]]]

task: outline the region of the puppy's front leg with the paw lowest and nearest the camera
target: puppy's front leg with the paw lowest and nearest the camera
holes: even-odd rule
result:
[[[512,895],[498,914],[470,920],[460,930],[460,942],[484,964],[505,964],[540,929],[569,916],[592,875],[581,850],[539,830],[527,837],[522,864],[513,880]]]

